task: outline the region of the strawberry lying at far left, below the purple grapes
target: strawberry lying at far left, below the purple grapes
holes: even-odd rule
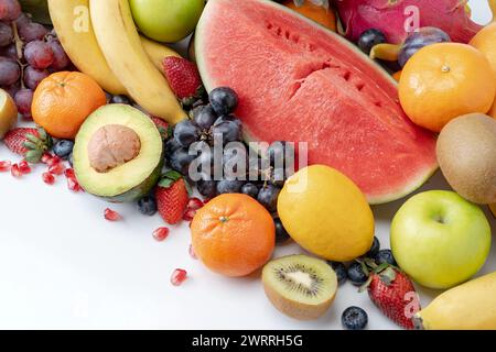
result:
[[[52,138],[42,128],[13,129],[6,134],[3,142],[11,152],[24,156],[32,164],[40,162],[53,145]]]

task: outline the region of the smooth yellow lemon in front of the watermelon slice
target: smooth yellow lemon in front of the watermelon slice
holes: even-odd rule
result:
[[[364,194],[324,165],[306,167],[288,179],[278,212],[298,244],[328,261],[354,260],[374,241],[374,216]]]

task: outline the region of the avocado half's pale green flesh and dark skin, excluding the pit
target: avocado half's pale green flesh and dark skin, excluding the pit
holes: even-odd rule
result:
[[[105,173],[90,164],[88,145],[94,134],[108,125],[123,125],[139,136],[137,156]],[[91,113],[77,133],[74,172],[85,191],[112,202],[134,201],[157,185],[163,166],[163,142],[153,121],[140,110],[126,105],[108,105]]]

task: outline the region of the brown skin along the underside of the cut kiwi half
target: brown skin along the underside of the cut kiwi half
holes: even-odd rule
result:
[[[282,314],[298,320],[316,320],[330,308],[336,297],[336,292],[326,301],[320,305],[305,305],[285,299],[279,295],[270,285],[263,283],[263,289],[272,305]]]

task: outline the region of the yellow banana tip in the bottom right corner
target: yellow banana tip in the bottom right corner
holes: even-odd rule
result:
[[[413,318],[428,330],[495,330],[496,273],[456,286]]]

